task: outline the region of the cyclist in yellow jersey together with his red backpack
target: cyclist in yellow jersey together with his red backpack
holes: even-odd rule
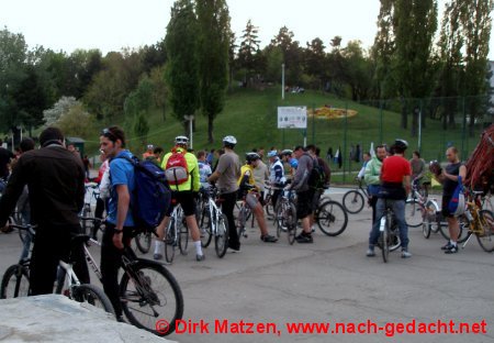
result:
[[[201,247],[201,236],[199,225],[195,219],[195,197],[201,188],[199,164],[194,154],[187,151],[189,139],[186,136],[177,136],[175,139],[176,146],[162,158],[161,168],[172,191],[172,199],[180,203],[186,215],[187,228],[190,230],[192,241],[195,246],[195,259],[204,261],[205,256]],[[161,251],[164,248],[165,230],[170,222],[170,215],[173,208],[170,207],[165,219],[157,228],[158,239],[155,241],[155,259],[161,259]]]

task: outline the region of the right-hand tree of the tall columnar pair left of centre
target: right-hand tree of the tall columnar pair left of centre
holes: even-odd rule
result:
[[[225,0],[197,0],[195,10],[201,108],[207,117],[207,142],[214,143],[213,123],[223,110],[228,81],[229,14]]]

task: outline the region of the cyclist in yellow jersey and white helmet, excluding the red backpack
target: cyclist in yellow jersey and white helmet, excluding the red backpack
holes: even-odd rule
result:
[[[203,261],[205,258],[202,247],[201,247],[201,236],[199,233],[198,221],[195,219],[195,198],[194,193],[199,192],[201,188],[200,176],[199,176],[199,164],[198,158],[195,158],[194,154],[187,152],[187,146],[189,144],[189,139],[186,136],[178,136],[175,139],[176,146],[173,151],[183,152],[184,158],[188,166],[189,178],[183,184],[172,186],[170,185],[170,189],[172,191],[172,199],[177,200],[177,203],[180,203],[182,207],[183,213],[186,215],[187,228],[190,230],[190,234],[192,236],[192,241],[195,246],[195,259]],[[168,159],[172,153],[168,153],[162,158],[161,168],[166,169]],[[168,228],[168,223],[170,222],[170,215],[173,211],[173,207],[170,207],[169,213],[165,217],[162,222],[156,228],[156,232],[158,234],[158,239],[155,241],[155,259],[161,259],[161,251],[165,237],[165,229]]]

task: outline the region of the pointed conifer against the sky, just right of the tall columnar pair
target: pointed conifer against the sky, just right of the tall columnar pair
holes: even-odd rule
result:
[[[259,55],[259,43],[258,40],[259,27],[255,26],[252,22],[247,22],[245,30],[242,35],[242,43],[238,49],[238,66],[245,69],[244,82],[249,84],[252,71],[256,71],[257,57]]]

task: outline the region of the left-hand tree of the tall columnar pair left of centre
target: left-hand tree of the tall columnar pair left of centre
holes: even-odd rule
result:
[[[168,54],[166,79],[173,115],[183,122],[184,115],[199,108],[199,75],[197,58],[198,21],[191,0],[178,0],[171,8],[165,46]],[[187,122],[183,130],[187,132]]]

